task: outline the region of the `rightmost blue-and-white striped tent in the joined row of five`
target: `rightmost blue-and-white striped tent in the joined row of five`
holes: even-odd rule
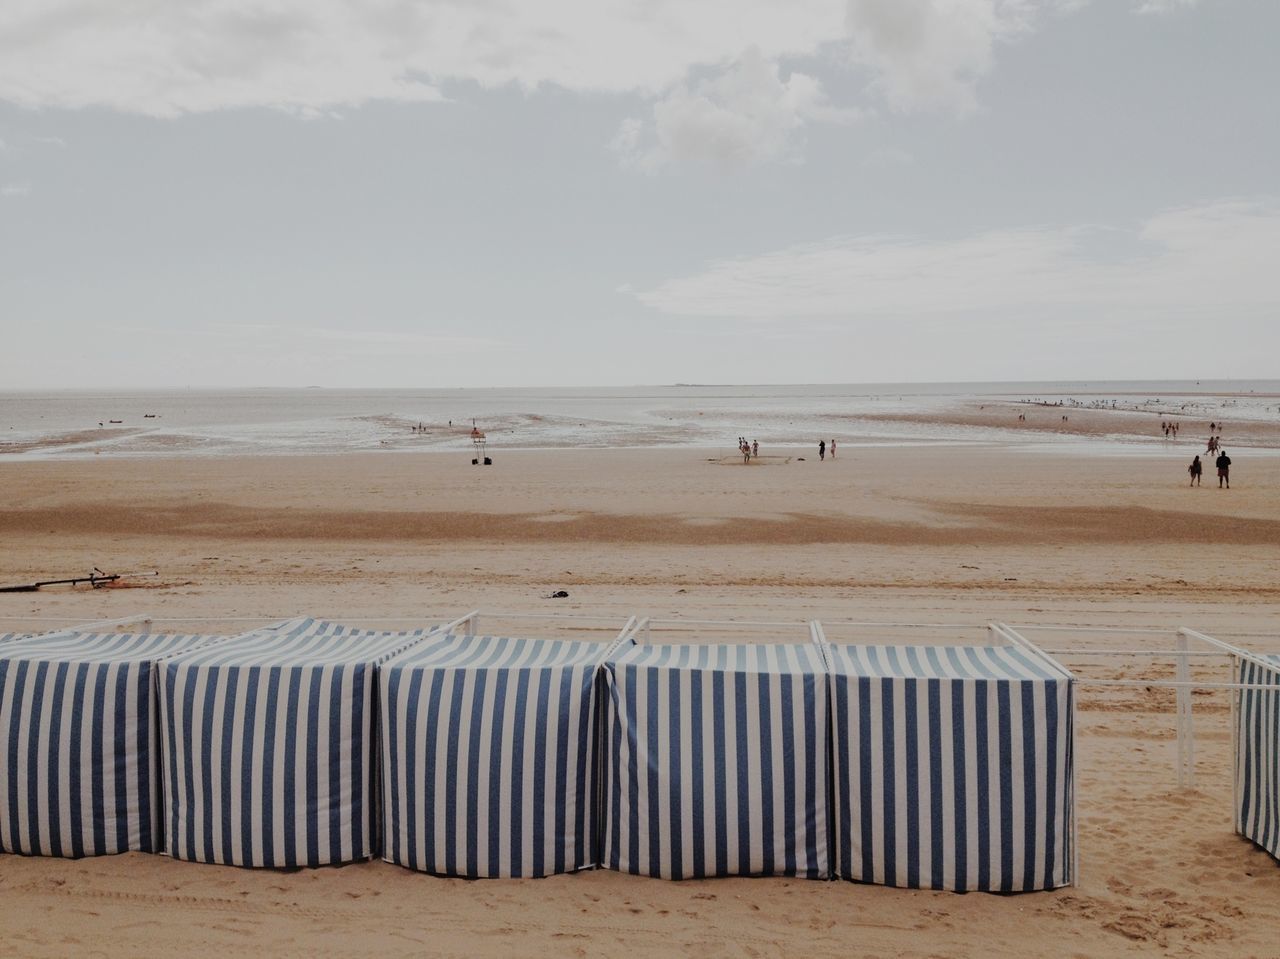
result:
[[[835,873],[1016,892],[1071,881],[1073,689],[1018,647],[827,647]]]

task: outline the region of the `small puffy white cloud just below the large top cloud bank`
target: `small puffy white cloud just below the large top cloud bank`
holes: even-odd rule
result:
[[[855,115],[832,106],[813,77],[792,72],[783,79],[776,63],[750,47],[716,77],[677,85],[654,104],[650,120],[623,120],[611,146],[646,173],[672,163],[736,170],[794,157],[806,122]]]

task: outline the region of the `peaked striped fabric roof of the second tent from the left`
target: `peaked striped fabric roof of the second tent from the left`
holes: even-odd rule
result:
[[[169,657],[186,666],[343,666],[379,663],[422,641],[430,627],[389,633],[326,620],[289,620]]]

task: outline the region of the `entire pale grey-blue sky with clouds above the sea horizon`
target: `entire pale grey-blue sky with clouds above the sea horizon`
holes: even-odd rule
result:
[[[0,389],[1275,378],[1274,0],[5,0]]]

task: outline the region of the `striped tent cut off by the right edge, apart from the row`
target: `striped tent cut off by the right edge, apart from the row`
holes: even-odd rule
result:
[[[1280,656],[1236,659],[1235,828],[1280,859]]]

